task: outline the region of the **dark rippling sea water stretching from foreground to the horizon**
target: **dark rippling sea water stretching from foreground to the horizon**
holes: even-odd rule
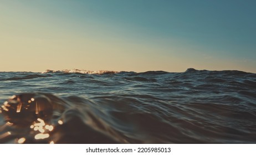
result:
[[[68,72],[0,73],[0,143],[256,143],[256,74]]]

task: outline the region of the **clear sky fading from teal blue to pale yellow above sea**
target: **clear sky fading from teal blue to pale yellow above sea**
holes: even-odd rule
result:
[[[0,0],[0,71],[256,73],[256,1]]]

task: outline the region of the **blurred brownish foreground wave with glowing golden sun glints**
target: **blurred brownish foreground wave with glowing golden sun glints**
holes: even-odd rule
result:
[[[7,123],[0,132],[8,130],[8,140],[18,137],[26,143],[124,143],[94,112],[103,115],[93,102],[77,96],[63,100],[47,93],[18,94],[2,106]]]

